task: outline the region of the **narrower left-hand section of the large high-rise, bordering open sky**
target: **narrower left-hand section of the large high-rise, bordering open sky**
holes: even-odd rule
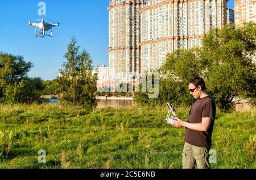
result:
[[[140,18],[144,0],[110,0],[109,78],[110,82],[132,79],[139,71]]]

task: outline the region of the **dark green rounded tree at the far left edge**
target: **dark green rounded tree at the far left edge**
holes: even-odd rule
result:
[[[42,79],[28,78],[31,62],[22,56],[0,53],[0,101],[3,103],[32,103],[38,101],[44,89]]]

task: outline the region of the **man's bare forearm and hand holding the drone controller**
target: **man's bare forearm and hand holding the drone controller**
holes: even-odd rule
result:
[[[171,124],[172,126],[175,126],[177,128],[185,127],[185,128],[193,129],[195,131],[204,131],[204,132],[206,132],[209,129],[210,121],[212,120],[212,118],[203,118],[202,123],[193,124],[193,123],[183,122],[179,118],[176,118],[176,119],[177,119],[177,122]]]

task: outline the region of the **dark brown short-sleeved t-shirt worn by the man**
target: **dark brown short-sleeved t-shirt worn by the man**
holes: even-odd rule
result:
[[[210,148],[215,115],[216,105],[210,97],[197,100],[189,111],[188,123],[202,123],[203,118],[212,118],[212,120],[207,132],[187,128],[185,142],[202,148]]]

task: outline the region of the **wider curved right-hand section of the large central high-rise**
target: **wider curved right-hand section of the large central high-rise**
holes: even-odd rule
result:
[[[148,0],[141,9],[141,72],[160,68],[175,49],[200,46],[226,16],[226,0]]]

